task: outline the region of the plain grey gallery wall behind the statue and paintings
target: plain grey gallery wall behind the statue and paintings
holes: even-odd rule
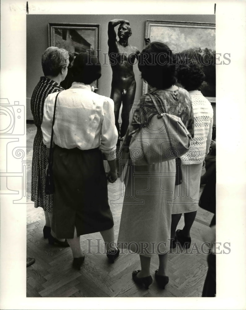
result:
[[[32,119],[30,110],[30,98],[32,91],[43,75],[41,67],[41,55],[49,47],[48,23],[80,23],[80,24],[100,24],[100,43],[101,53],[108,52],[107,45],[107,27],[108,22],[114,18],[129,20],[132,28],[132,36],[129,38],[129,44],[136,46],[140,51],[143,49],[145,42],[145,21],[162,20],[162,21],[187,21],[215,23],[215,15],[27,15],[27,120]],[[116,27],[116,30],[118,27]],[[98,94],[110,96],[112,71],[109,65],[108,56],[106,64],[104,59],[102,63],[102,76],[99,80]],[[137,64],[134,65],[136,79],[135,100],[139,100],[142,95],[142,80]],[[214,109],[215,123],[215,104]]]

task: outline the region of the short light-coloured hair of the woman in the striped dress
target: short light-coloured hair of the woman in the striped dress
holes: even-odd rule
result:
[[[58,47],[48,47],[41,59],[42,69],[45,76],[56,77],[61,68],[69,64],[68,51]]]

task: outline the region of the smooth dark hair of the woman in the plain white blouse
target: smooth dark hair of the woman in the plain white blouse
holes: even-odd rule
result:
[[[73,81],[91,84],[101,78],[101,64],[93,52],[78,54],[72,66]]]

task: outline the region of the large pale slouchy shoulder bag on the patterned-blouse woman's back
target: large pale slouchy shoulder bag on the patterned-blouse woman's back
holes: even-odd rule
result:
[[[140,126],[132,135],[129,145],[130,157],[136,166],[151,165],[176,159],[190,147],[191,134],[180,117],[162,113],[156,98],[150,93],[156,114],[150,117],[147,125]],[[162,100],[158,97],[158,100]],[[164,104],[161,105],[162,108]]]

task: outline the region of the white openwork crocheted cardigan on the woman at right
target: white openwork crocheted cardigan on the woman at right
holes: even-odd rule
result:
[[[181,161],[199,164],[209,152],[213,127],[213,108],[201,91],[189,91],[194,113],[194,138],[189,151],[181,156]]]

